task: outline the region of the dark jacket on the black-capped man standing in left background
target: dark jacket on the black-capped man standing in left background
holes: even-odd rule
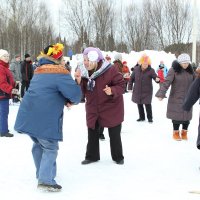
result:
[[[24,60],[21,63],[22,81],[30,81],[33,77],[32,61]]]

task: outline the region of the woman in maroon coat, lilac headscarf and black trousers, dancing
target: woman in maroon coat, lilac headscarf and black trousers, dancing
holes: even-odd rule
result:
[[[98,48],[86,48],[83,57],[87,71],[78,69],[75,72],[76,81],[86,97],[88,144],[82,164],[100,160],[99,127],[108,128],[113,161],[124,164],[121,142],[125,88],[123,76],[116,67],[104,60]]]

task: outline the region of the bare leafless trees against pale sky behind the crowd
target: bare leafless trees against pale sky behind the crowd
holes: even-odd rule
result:
[[[12,56],[37,56],[48,44],[62,42],[65,51],[72,48],[74,53],[80,53],[85,44],[104,51],[154,49],[191,54],[190,0],[143,0],[129,5],[122,0],[62,0],[56,22],[63,35],[55,30],[47,3],[0,0],[0,48]]]

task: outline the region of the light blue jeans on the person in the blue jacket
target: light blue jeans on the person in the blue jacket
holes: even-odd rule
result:
[[[35,137],[31,137],[31,139],[34,141],[32,155],[38,183],[55,185],[58,141],[43,140]]]

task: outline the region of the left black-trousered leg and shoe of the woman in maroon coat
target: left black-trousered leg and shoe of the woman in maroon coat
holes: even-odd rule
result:
[[[88,143],[86,149],[85,160],[82,164],[89,164],[100,160],[99,152],[99,124],[96,122],[95,129],[88,128]],[[89,161],[89,162],[87,162]]]

